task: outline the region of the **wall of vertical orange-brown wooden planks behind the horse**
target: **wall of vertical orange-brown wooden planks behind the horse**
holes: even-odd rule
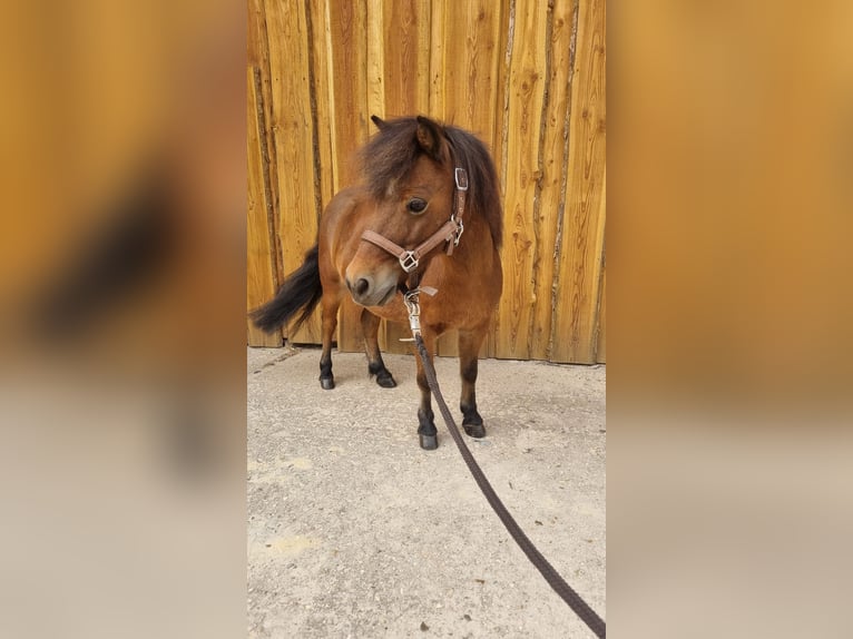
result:
[[[354,178],[370,116],[477,132],[504,204],[504,286],[482,355],[605,361],[605,0],[249,0],[247,304],[272,296]],[[249,327],[249,345],[318,343]],[[381,343],[408,352],[404,328]],[[357,309],[339,347],[360,351]],[[454,355],[454,336],[439,343]]]

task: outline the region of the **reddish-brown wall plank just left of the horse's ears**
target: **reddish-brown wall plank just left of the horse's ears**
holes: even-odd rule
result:
[[[329,0],[329,26],[332,42],[331,95],[334,96],[332,122],[335,190],[356,179],[353,154],[369,137],[367,109],[367,8],[365,0]],[[337,347],[362,350],[361,308],[344,296],[339,314]]]

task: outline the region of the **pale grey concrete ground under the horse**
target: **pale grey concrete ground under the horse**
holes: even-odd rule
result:
[[[248,350],[248,635],[273,638],[592,637],[469,475],[434,405],[422,451],[410,355],[381,389],[361,354]],[[458,411],[458,361],[437,358]],[[528,537],[601,617],[605,367],[480,362],[488,434],[465,438]]]

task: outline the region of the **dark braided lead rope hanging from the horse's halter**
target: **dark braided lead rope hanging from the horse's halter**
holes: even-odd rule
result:
[[[498,514],[498,518],[509,531],[512,539],[516,540],[516,543],[518,543],[519,548],[524,552],[524,554],[527,554],[527,558],[532,562],[532,564],[542,574],[542,577],[545,577],[545,580],[548,582],[548,584],[553,588],[555,592],[557,592],[557,594],[559,594],[566,603],[569,604],[569,608],[571,608],[575,613],[580,617],[584,623],[589,626],[589,629],[595,632],[596,637],[606,637],[607,627],[604,619],[601,619],[596,613],[596,611],[592,610],[568,583],[566,583],[566,580],[560,577],[553,567],[548,563],[548,560],[542,557],[542,553],[539,552],[536,545],[533,545],[533,542],[528,539],[527,534],[524,534],[524,531],[521,530],[521,527],[519,527],[519,524],[516,523],[516,520],[512,519],[512,515],[503,505],[503,502],[501,502],[501,500],[498,498],[494,489],[489,483],[489,480],[486,479],[483,471],[480,470],[480,466],[477,464],[477,461],[471,454],[471,451],[468,449],[468,445],[462,439],[462,435],[459,433],[459,427],[453,421],[453,415],[450,413],[450,410],[444,402],[444,397],[441,395],[439,381],[435,377],[435,368],[433,368],[432,363],[430,362],[430,356],[426,353],[426,346],[423,344],[423,337],[421,337],[420,331],[413,331],[413,333],[414,342],[418,346],[418,354],[421,356],[423,368],[426,373],[426,382],[430,385],[432,394],[435,396],[435,401],[439,403],[439,409],[441,410],[441,414],[444,416],[444,422],[448,424],[450,435],[457,443],[459,452],[462,453],[462,459],[465,460],[468,470],[471,471],[477,485],[480,486],[480,490],[483,492],[487,501],[489,504],[491,504],[492,509]]]

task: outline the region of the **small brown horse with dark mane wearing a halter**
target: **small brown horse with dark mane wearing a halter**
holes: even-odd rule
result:
[[[406,322],[403,295],[421,287],[421,325],[430,356],[435,340],[459,330],[462,425],[486,435],[477,412],[477,358],[502,287],[498,249],[502,213],[494,165],[483,144],[452,126],[424,117],[382,121],[360,151],[363,180],[337,193],[321,222],[320,239],[275,298],[252,317],[274,331],[317,303],[323,309],[320,382],[334,387],[332,338],[337,308],[349,292],[364,307],[361,325],[367,371],[380,386],[396,385],[379,350],[381,317]],[[434,291],[432,291],[434,289]],[[429,295],[428,293],[432,293]],[[438,446],[430,390],[418,361],[421,448]]]

